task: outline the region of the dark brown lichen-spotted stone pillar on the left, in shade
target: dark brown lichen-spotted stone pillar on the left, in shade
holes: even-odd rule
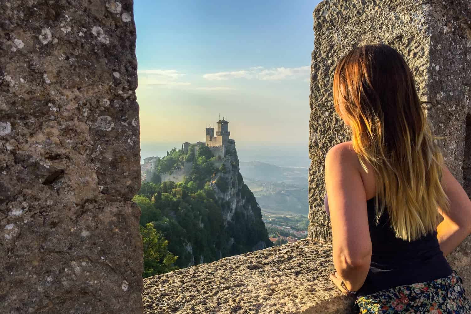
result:
[[[0,5],[1,313],[142,313],[132,11]]]

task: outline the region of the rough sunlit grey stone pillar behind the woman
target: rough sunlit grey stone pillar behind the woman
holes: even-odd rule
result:
[[[309,121],[309,237],[331,239],[323,209],[324,160],[349,140],[333,109],[333,72],[351,48],[382,42],[396,48],[415,75],[447,166],[471,193],[471,5],[468,0],[325,0],[314,11]],[[469,123],[468,123],[469,122]],[[471,291],[471,239],[448,260]]]

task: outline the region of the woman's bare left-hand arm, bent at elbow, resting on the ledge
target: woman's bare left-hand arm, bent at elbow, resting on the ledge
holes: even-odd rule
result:
[[[372,253],[365,188],[357,163],[357,155],[348,143],[335,145],[325,157],[333,263],[351,291],[365,282]]]

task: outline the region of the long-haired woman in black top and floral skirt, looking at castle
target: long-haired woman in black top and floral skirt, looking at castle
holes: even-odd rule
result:
[[[471,202],[444,164],[406,62],[387,45],[355,48],[337,65],[333,98],[352,141],[325,157],[332,281],[357,296],[360,313],[470,314],[445,256],[471,233]]]

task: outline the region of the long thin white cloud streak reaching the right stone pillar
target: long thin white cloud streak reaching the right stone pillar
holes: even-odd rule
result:
[[[271,68],[264,69],[261,66],[232,72],[217,72],[204,74],[203,78],[208,81],[227,81],[230,79],[256,79],[260,81],[292,80],[309,77],[310,66],[300,66],[297,68]]]

